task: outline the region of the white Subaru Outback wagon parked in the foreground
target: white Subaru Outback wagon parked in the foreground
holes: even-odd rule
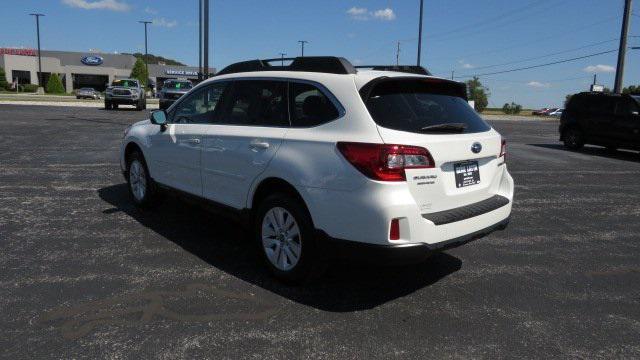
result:
[[[464,84],[421,67],[288,61],[232,64],[128,127],[133,202],[168,190],[237,215],[289,281],[334,256],[418,261],[506,227],[505,141]]]

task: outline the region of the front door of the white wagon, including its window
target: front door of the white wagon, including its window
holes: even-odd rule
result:
[[[209,85],[186,95],[169,114],[166,130],[151,136],[157,182],[202,196],[202,148],[215,116],[218,91]]]

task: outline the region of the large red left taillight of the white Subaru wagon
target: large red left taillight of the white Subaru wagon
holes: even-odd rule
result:
[[[342,155],[367,177],[405,181],[405,169],[433,168],[429,151],[419,146],[339,142]]]

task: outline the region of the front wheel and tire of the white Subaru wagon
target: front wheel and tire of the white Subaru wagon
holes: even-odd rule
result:
[[[149,175],[144,156],[138,151],[127,159],[127,188],[133,203],[141,208],[151,208],[160,199],[158,186]]]

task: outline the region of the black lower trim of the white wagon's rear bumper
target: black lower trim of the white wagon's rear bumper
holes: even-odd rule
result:
[[[485,237],[494,231],[504,230],[509,224],[509,220],[510,218],[506,218],[484,229],[436,244],[368,244],[331,238],[322,231],[318,232],[318,236],[323,253],[328,258],[374,262],[377,264],[411,264],[424,261],[436,252],[456,248]]]

